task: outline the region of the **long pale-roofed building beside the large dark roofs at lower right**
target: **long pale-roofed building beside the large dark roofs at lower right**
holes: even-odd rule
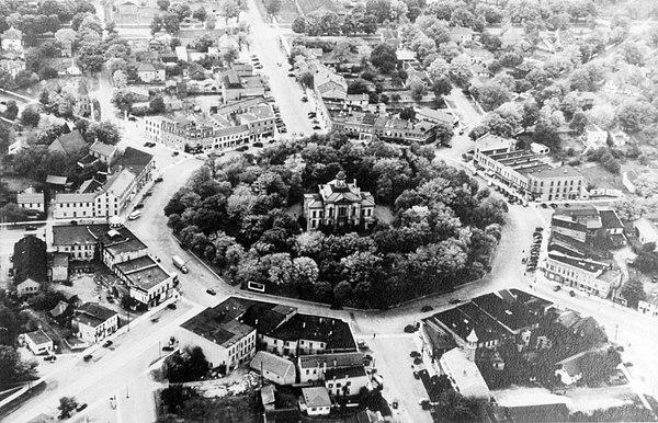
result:
[[[461,348],[453,348],[441,356],[439,365],[450,379],[453,389],[464,397],[489,400],[489,387],[476,364],[466,358]]]

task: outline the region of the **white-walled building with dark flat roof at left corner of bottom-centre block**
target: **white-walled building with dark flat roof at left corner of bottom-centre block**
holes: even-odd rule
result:
[[[230,371],[256,354],[256,329],[238,320],[243,312],[243,306],[229,298],[181,324],[177,338],[181,345],[201,346],[212,368],[226,366]]]

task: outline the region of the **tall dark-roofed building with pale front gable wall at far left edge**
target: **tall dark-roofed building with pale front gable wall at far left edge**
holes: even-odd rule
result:
[[[14,244],[13,283],[19,297],[38,294],[48,282],[46,243],[29,235]]]

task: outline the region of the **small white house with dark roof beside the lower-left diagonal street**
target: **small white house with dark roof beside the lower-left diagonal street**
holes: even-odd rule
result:
[[[118,330],[118,315],[98,302],[84,302],[76,309],[71,324],[76,336],[95,344]]]

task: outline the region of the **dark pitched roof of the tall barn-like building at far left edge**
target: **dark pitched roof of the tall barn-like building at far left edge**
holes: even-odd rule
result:
[[[20,285],[30,278],[37,283],[48,281],[46,243],[29,235],[14,244],[14,284]]]

